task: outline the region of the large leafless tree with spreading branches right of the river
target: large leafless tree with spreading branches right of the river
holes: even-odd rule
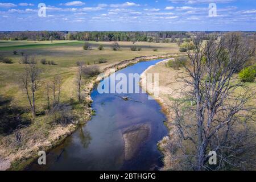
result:
[[[185,72],[177,77],[187,88],[182,89],[184,98],[172,107],[179,137],[176,147],[170,148],[179,148],[177,160],[186,168],[245,169],[255,164],[251,162],[255,127],[250,128],[255,122],[255,106],[250,105],[254,93],[237,82],[234,74],[254,50],[236,32],[219,39],[209,36],[206,42],[197,36],[193,44],[195,48],[187,51]],[[208,164],[209,151],[217,152],[215,166]]]

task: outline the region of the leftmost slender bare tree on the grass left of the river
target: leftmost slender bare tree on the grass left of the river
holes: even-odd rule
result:
[[[40,69],[37,67],[35,59],[28,59],[24,68],[22,81],[30,104],[31,113],[34,118],[36,116],[35,93],[38,90],[39,75]]]

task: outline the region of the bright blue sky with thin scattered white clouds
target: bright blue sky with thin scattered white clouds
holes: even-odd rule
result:
[[[46,17],[38,16],[39,3]],[[209,17],[209,3],[217,16]],[[256,31],[256,1],[4,0],[0,24],[0,31]]]

